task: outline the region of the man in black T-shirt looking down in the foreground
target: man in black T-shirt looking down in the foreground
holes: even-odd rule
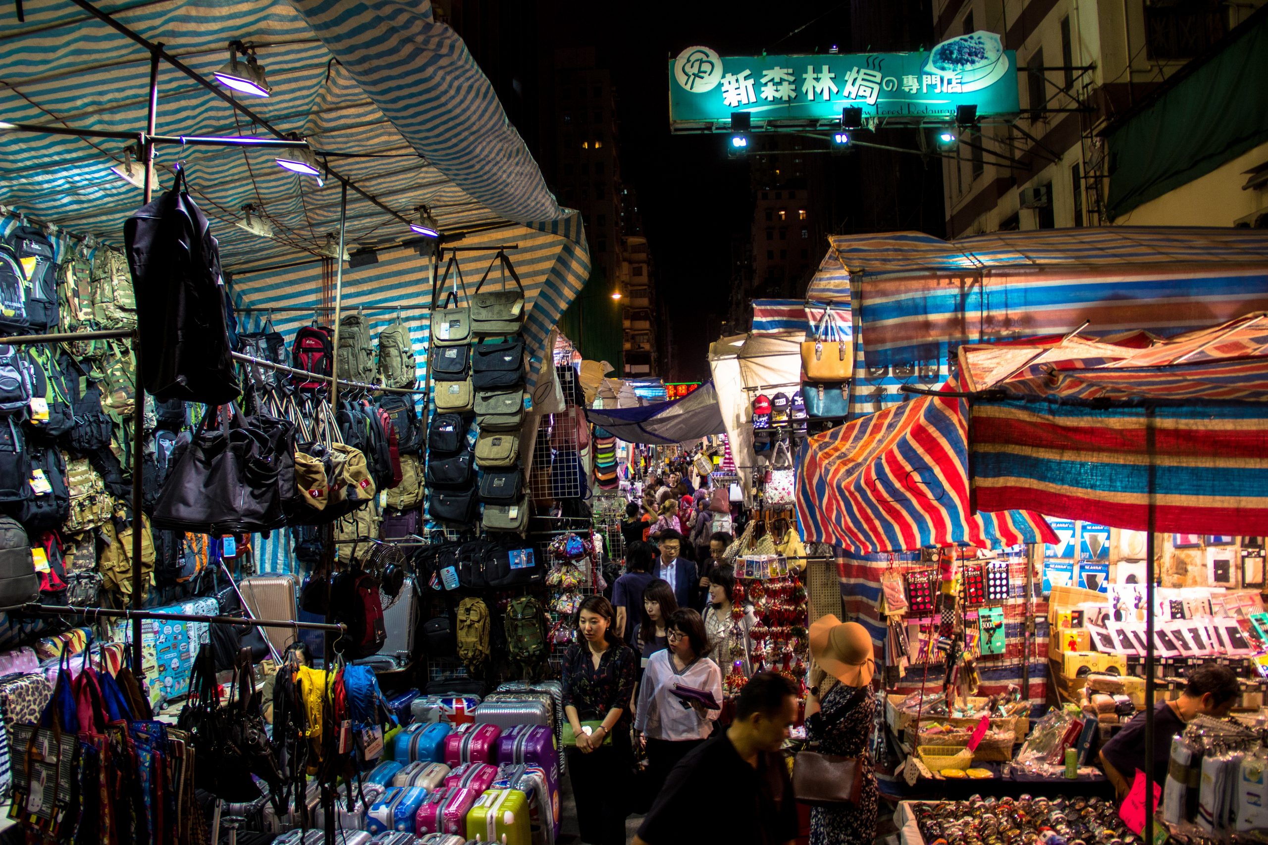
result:
[[[670,773],[634,845],[792,842],[796,799],[780,749],[796,721],[796,697],[784,675],[753,675],[739,693],[730,727]]]

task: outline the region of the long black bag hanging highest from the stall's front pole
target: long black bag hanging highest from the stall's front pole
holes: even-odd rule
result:
[[[242,391],[230,355],[219,246],[186,190],[184,167],[171,190],[133,212],[123,237],[146,390],[155,400],[221,405],[237,399]]]

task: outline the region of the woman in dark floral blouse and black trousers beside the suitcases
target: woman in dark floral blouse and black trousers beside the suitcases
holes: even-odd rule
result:
[[[630,699],[638,659],[616,632],[616,611],[591,595],[577,611],[581,642],[563,655],[563,708],[576,747],[568,749],[568,774],[577,798],[581,839],[593,845],[625,845],[629,815]]]

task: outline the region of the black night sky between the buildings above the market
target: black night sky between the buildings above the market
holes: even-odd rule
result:
[[[748,166],[729,160],[720,137],[671,136],[667,66],[683,47],[705,44],[721,54],[828,52],[850,42],[850,3],[678,3],[601,9],[592,3],[541,3],[555,15],[545,33],[557,44],[596,47],[619,98],[621,168],[637,187],[657,266],[657,290],[673,326],[676,372],[666,380],[709,375],[702,314],[724,314],[730,238],[752,223]],[[812,23],[813,22],[813,23]],[[805,25],[809,24],[809,25]],[[792,30],[805,25],[795,34]],[[549,35],[548,35],[549,37]]]

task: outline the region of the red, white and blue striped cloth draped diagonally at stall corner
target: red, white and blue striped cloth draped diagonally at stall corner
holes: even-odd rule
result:
[[[805,540],[861,552],[1055,542],[1038,514],[970,509],[965,433],[962,400],[919,397],[810,437],[798,454]]]

